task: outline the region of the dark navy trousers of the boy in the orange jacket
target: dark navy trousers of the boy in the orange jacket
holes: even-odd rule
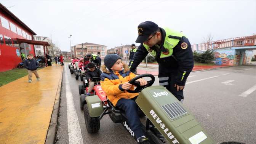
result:
[[[117,102],[117,107],[125,111],[130,128],[138,139],[139,137],[143,136],[144,133],[141,128],[141,121],[139,120],[138,105],[135,102],[136,98],[137,96],[133,99],[121,98]]]

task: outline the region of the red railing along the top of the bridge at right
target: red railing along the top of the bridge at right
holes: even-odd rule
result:
[[[213,42],[199,43],[191,45],[192,51],[205,51],[209,49],[238,47],[238,46],[254,46],[256,45],[256,35],[247,37],[227,38],[224,40],[216,40]]]

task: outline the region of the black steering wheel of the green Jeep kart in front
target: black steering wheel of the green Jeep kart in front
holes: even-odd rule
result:
[[[151,80],[147,81],[147,85],[141,86],[141,84],[139,82],[137,82],[136,80],[138,80],[139,78],[142,77],[150,77]],[[139,93],[141,92],[144,88],[147,88],[149,86],[152,86],[153,83],[155,82],[155,77],[152,74],[142,74],[142,75],[138,75],[136,77],[134,77],[133,79],[131,79],[129,81],[129,83],[131,83],[134,86],[137,86],[137,88],[135,90],[126,90],[128,93]]]

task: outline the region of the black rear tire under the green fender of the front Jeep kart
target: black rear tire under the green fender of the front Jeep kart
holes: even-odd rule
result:
[[[97,133],[101,126],[99,117],[90,117],[87,104],[83,105],[83,115],[85,116],[85,125],[88,133]]]

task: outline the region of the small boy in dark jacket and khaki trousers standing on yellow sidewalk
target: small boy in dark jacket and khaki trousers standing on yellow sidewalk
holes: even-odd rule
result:
[[[29,54],[28,59],[26,59],[24,62],[24,67],[27,69],[27,72],[29,73],[29,81],[28,83],[32,82],[32,73],[35,74],[35,77],[37,77],[37,81],[40,80],[39,75],[37,73],[37,67],[38,67],[38,62],[33,59],[33,55]]]

